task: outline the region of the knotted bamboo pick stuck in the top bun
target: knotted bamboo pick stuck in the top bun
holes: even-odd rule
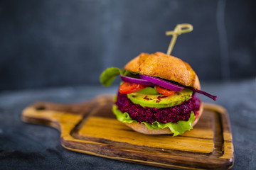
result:
[[[174,30],[166,31],[166,35],[173,35],[173,38],[171,38],[170,45],[168,47],[168,50],[166,52],[167,55],[171,55],[171,51],[174,48],[175,42],[177,40],[178,35],[181,35],[182,33],[189,33],[193,30],[193,26],[189,23],[182,23],[178,24]]]

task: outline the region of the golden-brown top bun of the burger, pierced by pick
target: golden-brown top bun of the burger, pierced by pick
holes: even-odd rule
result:
[[[124,69],[146,76],[175,81],[194,89],[201,89],[199,79],[188,63],[163,52],[141,53],[128,62]]]

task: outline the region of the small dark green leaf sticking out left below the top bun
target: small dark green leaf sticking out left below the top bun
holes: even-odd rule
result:
[[[105,69],[105,71],[102,72],[102,74],[100,75],[100,83],[104,86],[110,86],[114,81],[115,77],[119,74],[123,76],[129,76],[132,74],[132,72],[124,69],[119,69],[117,67],[110,67],[108,69]]]

